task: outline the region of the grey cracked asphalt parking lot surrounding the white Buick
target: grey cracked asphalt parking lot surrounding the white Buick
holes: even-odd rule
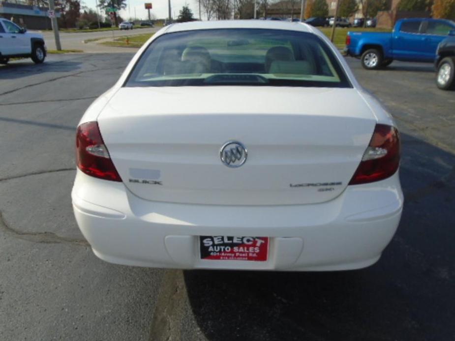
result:
[[[402,133],[405,208],[378,263],[180,271],[98,260],[72,215],[75,127],[131,57],[0,67],[0,340],[455,340],[455,92],[432,65],[348,58]]]

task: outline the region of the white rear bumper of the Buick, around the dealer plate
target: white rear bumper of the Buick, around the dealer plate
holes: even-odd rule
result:
[[[122,183],[78,170],[72,202],[96,256],[166,268],[324,271],[376,262],[392,239],[403,205],[398,173],[348,186],[319,204],[219,206],[140,199]],[[265,262],[199,259],[199,235],[269,236]]]

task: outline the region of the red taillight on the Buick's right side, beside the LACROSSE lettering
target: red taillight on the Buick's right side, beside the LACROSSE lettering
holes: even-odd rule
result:
[[[373,137],[350,185],[379,181],[392,176],[400,164],[400,137],[390,125],[376,124]]]

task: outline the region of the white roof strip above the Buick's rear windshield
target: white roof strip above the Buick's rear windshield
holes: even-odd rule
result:
[[[196,29],[216,28],[262,28],[262,29],[284,29],[299,32],[315,33],[315,30],[304,23],[289,22],[283,20],[217,20],[217,21],[194,21],[188,23],[172,24],[166,33],[188,31]]]

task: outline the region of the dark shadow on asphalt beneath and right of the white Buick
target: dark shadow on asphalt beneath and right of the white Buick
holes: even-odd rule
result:
[[[402,135],[405,208],[357,271],[185,271],[208,340],[455,340],[455,155]],[[323,246],[321,246],[323,247]]]

